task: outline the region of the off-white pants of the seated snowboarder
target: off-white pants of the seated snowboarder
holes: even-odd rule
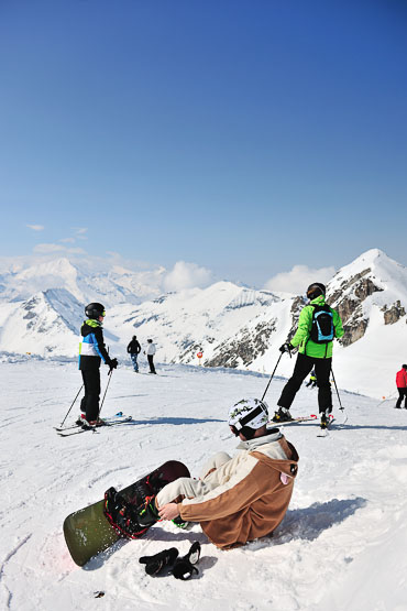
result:
[[[205,477],[213,469],[218,469],[218,467],[228,462],[228,460],[231,460],[229,454],[226,451],[218,451],[206,462],[198,480],[194,478],[178,478],[167,483],[157,494],[156,501],[158,508],[174,502],[174,500],[180,495],[187,499],[196,499],[197,497],[207,494],[207,492],[210,492],[213,488],[217,488],[219,485],[218,483],[211,485],[205,481]]]

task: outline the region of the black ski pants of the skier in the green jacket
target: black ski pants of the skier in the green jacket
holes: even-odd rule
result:
[[[331,365],[332,359],[316,359],[314,357],[308,357],[308,354],[298,353],[293,375],[284,386],[282,395],[277,401],[277,405],[289,410],[304,380],[312,371],[312,368],[315,368],[317,375],[319,412],[331,412],[332,392],[331,383],[329,381]]]

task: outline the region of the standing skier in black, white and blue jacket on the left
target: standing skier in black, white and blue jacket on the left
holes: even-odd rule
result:
[[[95,425],[99,415],[101,360],[112,370],[118,367],[118,359],[111,359],[106,350],[102,331],[106,316],[105,306],[91,303],[86,306],[85,314],[88,319],[81,326],[82,340],[79,343],[79,369],[85,385],[85,396],[80,402],[80,410],[82,417],[85,415],[86,421],[90,425]]]

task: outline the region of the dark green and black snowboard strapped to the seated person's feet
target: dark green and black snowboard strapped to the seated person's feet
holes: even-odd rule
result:
[[[138,484],[145,482],[147,478],[157,482],[152,490],[156,494],[168,482],[189,477],[189,471],[183,462],[169,460],[152,473],[121,490],[120,494],[129,503],[138,505],[142,502],[141,499],[138,499],[136,489],[140,489]],[[72,513],[64,522],[66,545],[74,563],[80,567],[122,538],[106,517],[103,510],[105,500],[101,500]]]

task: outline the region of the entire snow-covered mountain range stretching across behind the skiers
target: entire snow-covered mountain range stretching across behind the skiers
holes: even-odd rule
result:
[[[73,358],[84,301],[99,296],[108,304],[110,297],[114,302],[118,296],[118,290],[102,275],[100,293],[84,299],[84,286],[94,286],[95,279],[78,275],[78,270],[64,260],[40,269],[37,274],[33,270],[20,272],[20,282],[25,277],[31,286],[32,274],[35,282],[38,277],[53,282],[55,270],[72,291],[40,292],[14,303],[12,310],[9,302],[0,304],[0,350]],[[108,273],[110,279],[112,273]],[[120,276],[122,297],[124,275]],[[130,292],[134,279],[128,280]],[[111,293],[101,295],[105,290]],[[81,295],[79,301],[77,294]],[[334,372],[346,380],[342,385],[387,395],[394,388],[395,371],[407,360],[407,269],[384,252],[370,250],[338,271],[327,285],[327,299],[338,308],[345,329],[334,349]],[[136,335],[142,345],[148,337],[154,339],[158,362],[198,364],[196,354],[202,351],[206,367],[260,372],[274,369],[278,347],[294,334],[306,303],[300,296],[287,297],[231,282],[168,293],[139,304],[129,301],[108,308],[105,321],[107,343],[122,361],[127,345]],[[293,361],[285,356],[277,373],[287,377],[292,371]]]

